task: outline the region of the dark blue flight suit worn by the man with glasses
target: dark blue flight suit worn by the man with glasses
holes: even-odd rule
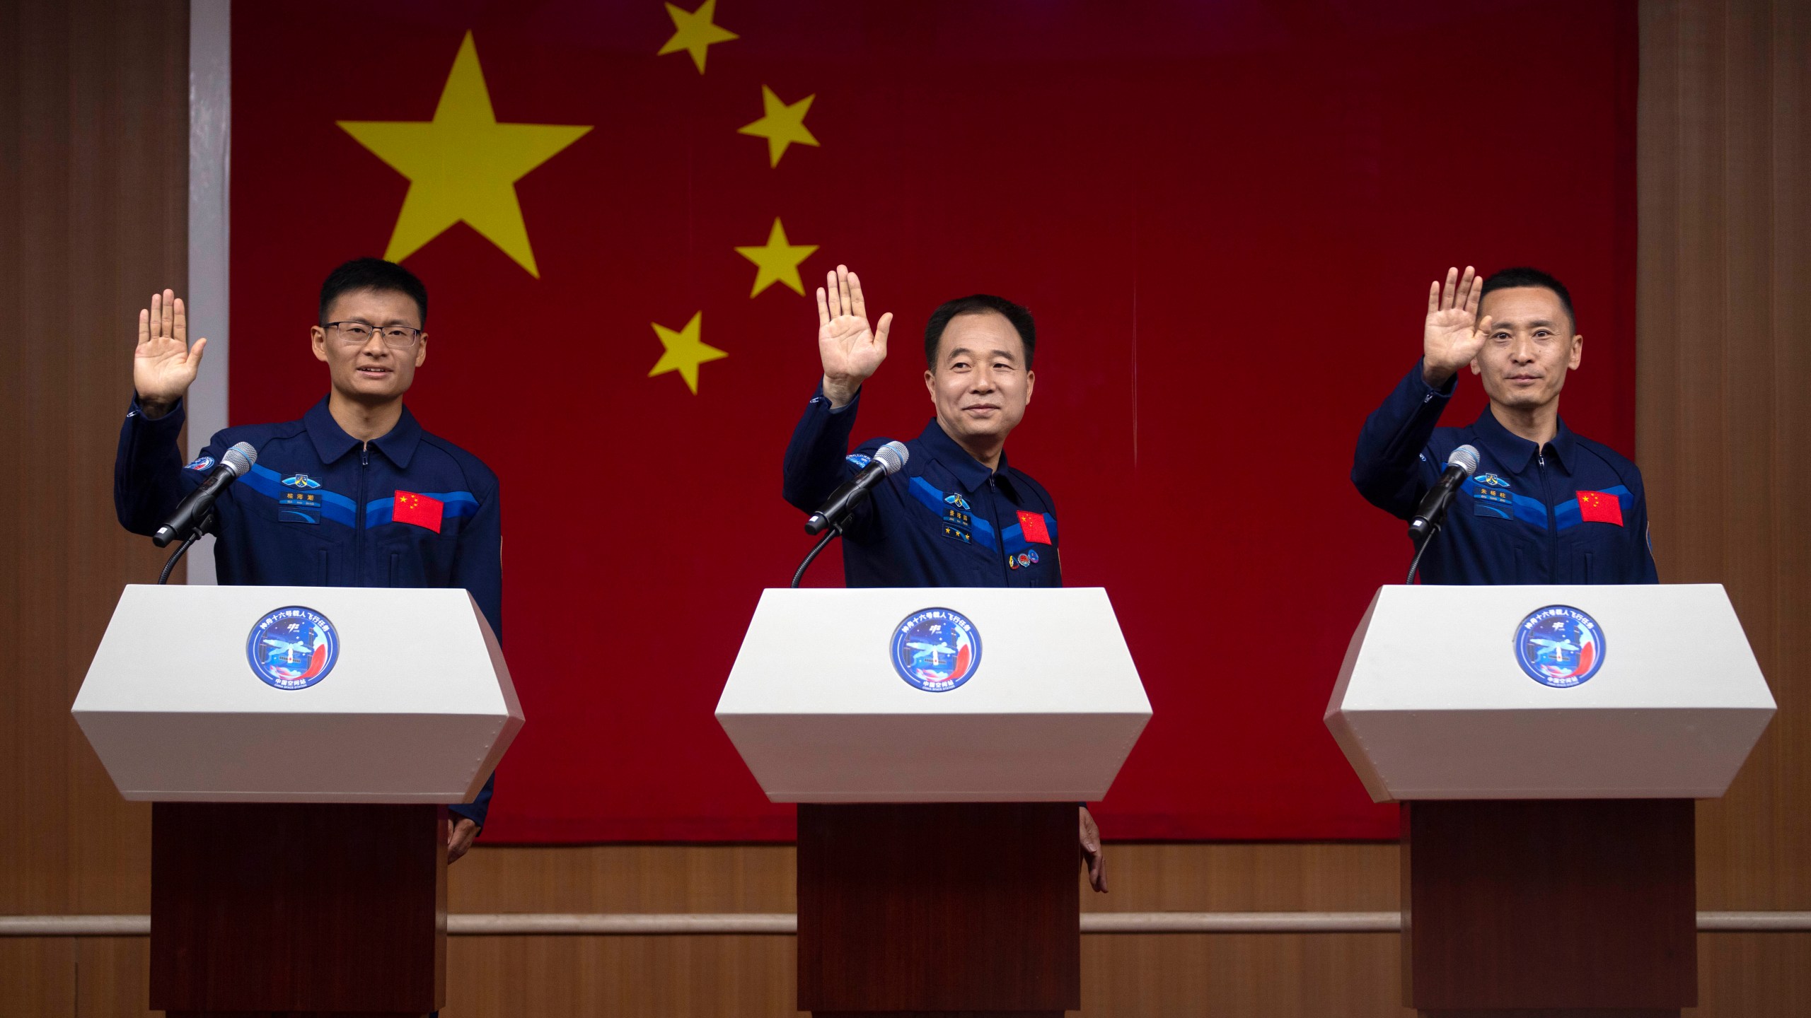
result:
[[[422,431],[415,415],[364,447],[322,399],[301,420],[214,435],[183,466],[183,404],[150,420],[132,400],[114,458],[114,509],[134,534],[152,534],[237,442],[257,449],[252,473],[214,502],[214,563],[223,585],[464,587],[503,638],[503,523],[496,475],[478,456]],[[442,504],[440,531],[391,518],[397,493]],[[478,797],[451,806],[484,826],[493,773]]]

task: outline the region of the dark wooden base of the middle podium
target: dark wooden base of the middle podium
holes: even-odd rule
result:
[[[1081,1007],[1074,802],[799,806],[799,1009],[1061,1018]]]

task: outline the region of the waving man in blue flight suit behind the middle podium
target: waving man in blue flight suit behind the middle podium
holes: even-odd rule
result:
[[[837,266],[817,292],[824,379],[786,446],[786,502],[811,513],[853,478],[884,438],[849,453],[862,382],[887,357],[893,315],[867,326],[862,281]],[[1007,435],[1030,404],[1038,330],[1030,312],[987,293],[949,301],[924,330],[924,386],[936,417],[898,473],[844,523],[849,587],[1061,587],[1056,502],[1007,466]],[[1088,880],[1107,889],[1094,817],[1079,813]]]

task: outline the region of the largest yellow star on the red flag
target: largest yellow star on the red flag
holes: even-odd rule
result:
[[[453,58],[431,121],[342,120],[339,125],[409,178],[386,259],[402,261],[465,221],[529,275],[540,277],[516,203],[516,181],[590,127],[496,123],[471,33]]]

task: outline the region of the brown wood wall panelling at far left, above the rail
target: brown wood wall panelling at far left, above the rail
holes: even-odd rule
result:
[[[112,518],[138,308],[187,268],[188,5],[0,4],[0,911],[145,911],[149,810],[69,719],[120,587]]]

